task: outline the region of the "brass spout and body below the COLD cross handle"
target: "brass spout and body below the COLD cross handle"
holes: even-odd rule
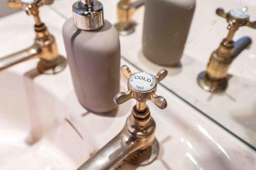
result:
[[[155,139],[155,121],[150,116],[148,107],[144,112],[146,118],[136,118],[135,112],[138,113],[136,106],[121,132],[77,170],[107,170],[135,151],[151,147]]]

